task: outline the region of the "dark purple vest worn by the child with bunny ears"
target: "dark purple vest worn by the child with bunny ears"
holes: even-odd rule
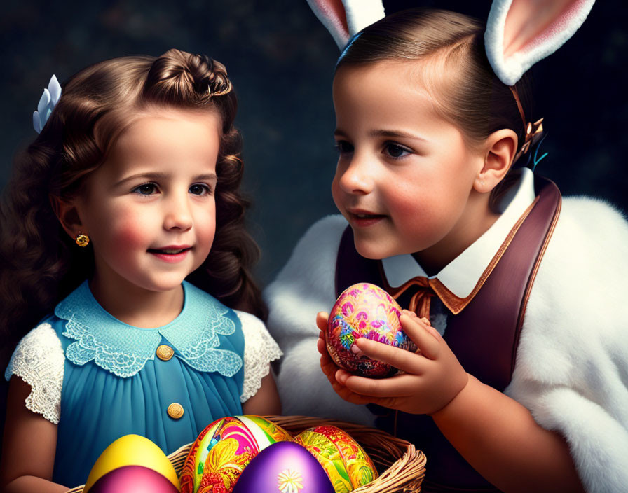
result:
[[[503,391],[510,383],[519,333],[538,265],[560,212],[561,195],[552,181],[535,177],[538,200],[505,253],[470,303],[449,317],[444,340],[467,373]],[[383,286],[381,261],[360,256],[353,231],[343,233],[336,261],[336,296],[357,282]],[[409,296],[401,296],[407,307]],[[376,426],[414,443],[428,459],[425,492],[496,492],[444,438],[427,415],[410,415],[369,405]],[[395,417],[396,415],[396,417]],[[395,426],[396,421],[396,426]]]

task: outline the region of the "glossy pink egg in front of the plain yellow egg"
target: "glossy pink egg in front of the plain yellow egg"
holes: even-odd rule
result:
[[[103,475],[90,493],[177,493],[165,476],[142,466],[123,466]]]

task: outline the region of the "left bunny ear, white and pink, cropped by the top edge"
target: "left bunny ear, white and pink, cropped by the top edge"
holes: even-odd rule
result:
[[[381,0],[308,0],[342,50],[353,34],[384,17]]]

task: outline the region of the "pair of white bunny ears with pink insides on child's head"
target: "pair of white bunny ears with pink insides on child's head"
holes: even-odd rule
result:
[[[514,85],[558,50],[585,22],[595,0],[494,0],[484,44],[493,71]],[[381,0],[308,0],[342,50],[355,33],[384,17]]]

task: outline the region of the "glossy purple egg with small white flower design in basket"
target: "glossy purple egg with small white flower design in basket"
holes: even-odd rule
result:
[[[305,447],[277,442],[250,461],[233,493],[334,493],[334,487]]]

